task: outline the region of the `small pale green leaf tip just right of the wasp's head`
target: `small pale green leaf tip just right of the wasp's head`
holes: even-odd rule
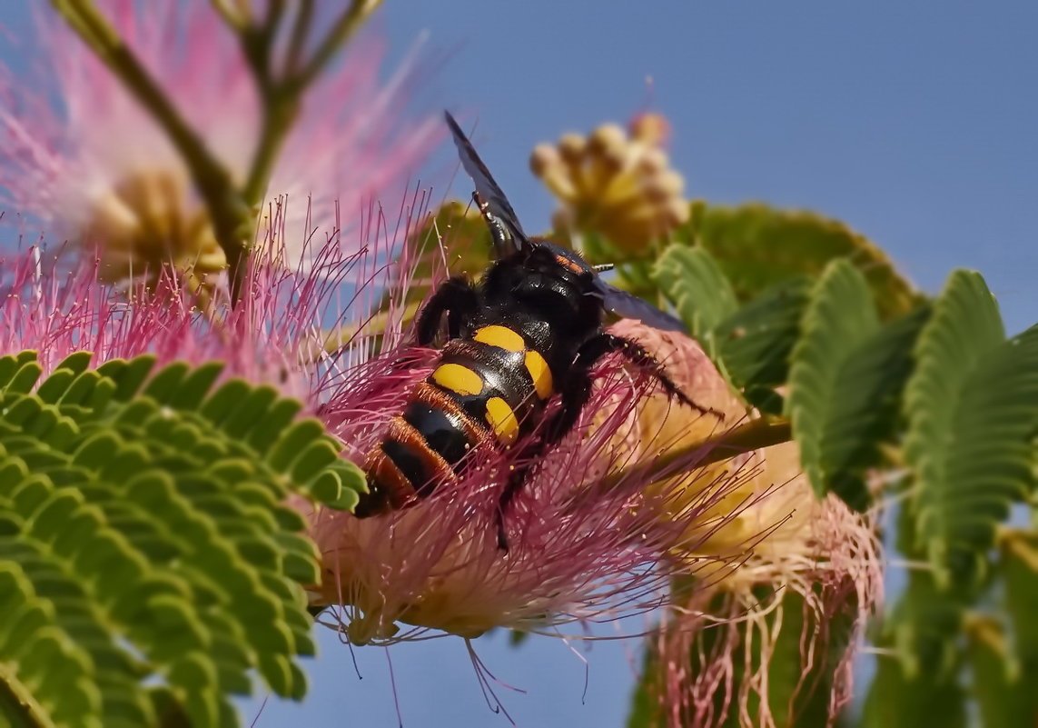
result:
[[[701,341],[709,342],[710,332],[738,307],[731,284],[706,250],[668,247],[656,262],[653,277],[691,334]]]

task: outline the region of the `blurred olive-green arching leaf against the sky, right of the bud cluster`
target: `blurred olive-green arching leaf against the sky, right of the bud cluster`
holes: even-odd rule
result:
[[[922,301],[882,250],[836,220],[759,204],[695,201],[691,213],[676,237],[709,250],[740,300],[790,278],[817,276],[831,261],[846,258],[865,275],[883,319],[907,314]]]

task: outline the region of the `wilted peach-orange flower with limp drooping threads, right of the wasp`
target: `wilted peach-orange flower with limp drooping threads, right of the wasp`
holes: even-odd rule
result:
[[[707,367],[688,366],[688,360],[703,361],[706,355],[681,334],[643,326],[624,333],[668,362],[679,385],[694,386],[685,373]],[[722,387],[715,389],[715,397],[711,406],[732,414],[745,412],[744,405]],[[665,398],[659,394],[648,400],[639,416],[643,436],[658,432],[675,448],[705,434],[682,412],[665,408]],[[787,706],[772,705],[768,692],[768,670],[780,638],[799,646],[800,698],[828,689],[828,710],[835,720],[850,699],[855,638],[881,598],[873,525],[836,495],[819,500],[814,494],[799,470],[794,443],[722,460],[695,480],[672,483],[684,493],[675,503],[695,497],[703,484],[735,468],[745,477],[715,502],[716,512],[704,517],[719,520],[733,508],[738,509],[735,515],[694,548],[672,552],[678,563],[696,565],[706,559],[718,566],[701,568],[699,578],[706,577],[707,586],[675,599],[652,647],[656,658],[651,664],[658,671],[657,722],[676,728],[730,722],[745,728],[773,726],[776,718],[781,723],[786,716],[776,717],[772,709]],[[671,514],[665,512],[664,517]],[[841,644],[841,637],[829,628],[841,622],[850,636],[845,648],[834,647]],[[783,629],[794,633],[783,635]],[[784,653],[783,658],[789,655]],[[832,674],[830,683],[815,684],[819,670]]]

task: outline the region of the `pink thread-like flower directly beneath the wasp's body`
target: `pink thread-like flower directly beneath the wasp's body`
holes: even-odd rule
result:
[[[332,388],[321,417],[351,458],[361,462],[380,441],[435,360],[434,351],[390,348]],[[592,400],[576,427],[535,463],[506,512],[507,551],[497,545],[495,514],[506,474],[520,464],[522,440],[510,453],[473,449],[457,482],[402,510],[363,519],[312,514],[324,562],[312,603],[333,605],[355,644],[417,639],[429,630],[472,638],[492,627],[572,633],[575,622],[668,603],[676,573],[668,555],[701,548],[723,527],[728,519],[715,517],[715,506],[738,486],[739,474],[680,505],[672,488],[647,488],[644,477],[627,475],[638,463],[616,442],[632,434],[648,382],[612,357],[594,374]],[[611,413],[601,416],[609,403]],[[706,454],[673,465],[689,467]],[[659,518],[661,510],[671,517]],[[695,568],[681,564],[680,572],[699,568],[722,565],[705,558]]]

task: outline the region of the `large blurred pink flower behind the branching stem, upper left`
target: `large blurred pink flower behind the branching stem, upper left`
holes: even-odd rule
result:
[[[264,131],[262,104],[216,3],[98,5],[233,182],[243,184]],[[146,274],[154,284],[170,263],[190,269],[195,285],[221,270],[225,257],[207,207],[164,131],[53,11],[37,12],[36,29],[43,57],[34,59],[34,77],[7,69],[0,78],[0,205],[95,251],[106,281]],[[282,203],[290,268],[317,254],[305,245],[316,228],[343,225],[339,240],[355,251],[361,212],[372,200],[401,198],[439,133],[432,117],[406,116],[414,65],[382,82],[383,55],[383,44],[367,36],[328,66],[274,158],[261,195],[267,204],[254,211],[255,237],[271,238],[271,203]]]

